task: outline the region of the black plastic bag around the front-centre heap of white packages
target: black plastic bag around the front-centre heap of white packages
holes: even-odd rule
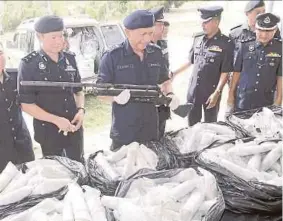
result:
[[[199,175],[202,175],[197,168],[194,168]],[[125,197],[127,195],[127,192],[129,191],[131,184],[134,180],[139,178],[148,178],[148,179],[158,179],[158,178],[170,178],[184,169],[172,169],[172,170],[163,170],[163,171],[154,171],[150,169],[141,169],[137,171],[135,174],[133,174],[131,177],[129,177],[127,180],[124,180],[120,182],[115,196],[117,197]],[[209,209],[207,215],[203,218],[203,221],[218,221],[220,220],[223,211],[225,209],[225,203],[223,199],[222,192],[220,188],[218,188],[218,197],[216,203]]]

